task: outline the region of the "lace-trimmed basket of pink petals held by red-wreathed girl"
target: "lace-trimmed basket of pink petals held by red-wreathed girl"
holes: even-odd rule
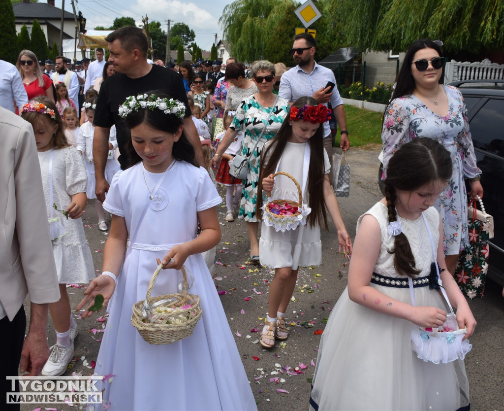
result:
[[[270,200],[264,206],[263,221],[269,227],[274,227],[275,231],[285,232],[287,230],[295,230],[300,224],[306,224],[306,217],[310,214],[311,209],[304,205],[301,187],[294,177],[283,171],[273,174],[273,178],[278,175],[289,177],[296,185],[299,201],[292,200]],[[268,193],[270,196],[271,193]]]

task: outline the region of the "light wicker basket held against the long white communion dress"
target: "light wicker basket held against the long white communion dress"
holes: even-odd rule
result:
[[[183,291],[151,297],[152,288],[163,265],[152,275],[144,301],[133,305],[131,323],[149,344],[171,344],[193,334],[201,318],[199,295],[187,294],[187,276],[182,267]],[[185,307],[191,305],[190,307]],[[185,308],[183,308],[185,307]],[[171,312],[171,309],[176,309]]]

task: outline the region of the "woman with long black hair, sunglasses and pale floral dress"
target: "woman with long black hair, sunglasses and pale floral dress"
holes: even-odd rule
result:
[[[471,187],[472,197],[483,197],[483,188],[467,108],[459,89],[443,84],[443,62],[439,45],[431,40],[417,40],[406,52],[392,101],[384,115],[382,179],[387,177],[393,153],[414,138],[432,138],[451,152],[452,179],[434,207],[443,220],[446,265],[453,275],[460,251],[468,245],[468,200],[464,179]]]

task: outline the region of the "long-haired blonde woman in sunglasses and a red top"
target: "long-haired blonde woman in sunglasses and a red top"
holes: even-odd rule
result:
[[[52,80],[40,69],[35,53],[30,50],[22,50],[16,62],[16,68],[23,80],[28,101],[41,95],[54,102]]]

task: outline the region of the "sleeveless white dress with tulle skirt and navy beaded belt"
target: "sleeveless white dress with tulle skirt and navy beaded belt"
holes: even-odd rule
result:
[[[425,215],[437,246],[439,214],[431,207]],[[376,203],[366,214],[380,224],[382,246],[374,273],[406,280],[394,269],[393,237],[387,233],[387,207]],[[357,223],[357,230],[362,216]],[[400,219],[410,242],[419,277],[428,276],[432,246],[423,218]],[[408,287],[370,284],[391,298],[411,304]],[[445,309],[436,290],[415,287],[416,305]],[[455,411],[469,403],[464,362],[433,364],[417,358],[411,349],[413,323],[370,310],[348,297],[345,289],[334,306],[322,335],[313,376],[310,411]],[[469,409],[469,408],[466,408]]]

